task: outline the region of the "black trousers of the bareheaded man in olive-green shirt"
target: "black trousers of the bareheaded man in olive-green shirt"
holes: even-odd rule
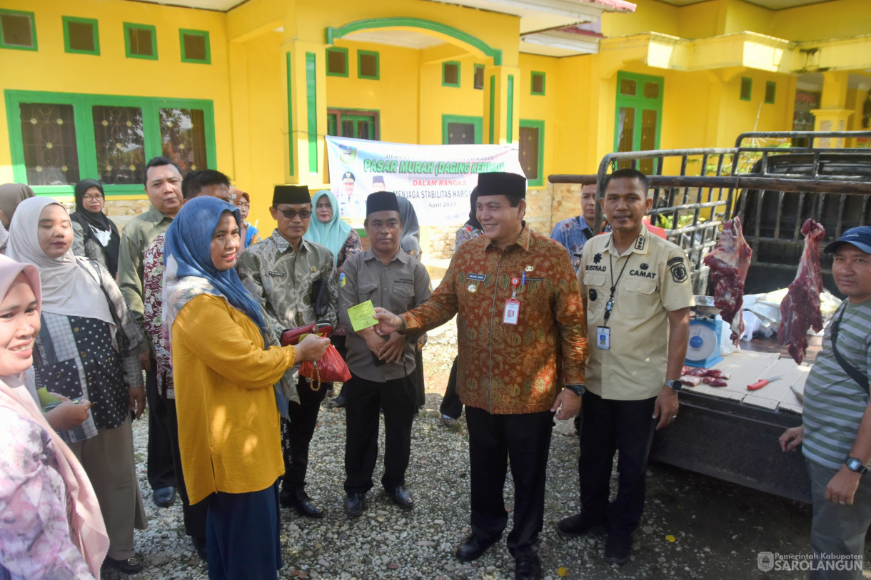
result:
[[[172,426],[166,400],[158,391],[157,363],[145,371],[145,398],[148,401],[148,483],[152,489],[175,487],[172,462]],[[175,429],[178,433],[178,428]]]

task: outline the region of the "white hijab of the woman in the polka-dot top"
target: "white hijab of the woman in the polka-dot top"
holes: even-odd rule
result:
[[[64,206],[51,198],[24,199],[18,205],[9,226],[6,255],[39,269],[43,280],[43,312],[97,318],[114,326],[115,320],[99,283],[78,265],[72,247],[59,258],[49,258],[39,246],[39,217],[51,204],[66,212]]]

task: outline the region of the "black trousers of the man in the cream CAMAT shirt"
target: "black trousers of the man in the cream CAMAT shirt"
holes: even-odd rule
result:
[[[640,401],[603,399],[584,393],[581,423],[581,511],[607,520],[608,533],[626,535],[638,527],[645,509],[645,473],[656,421],[656,397]],[[611,466],[620,452],[617,498],[609,504]]]

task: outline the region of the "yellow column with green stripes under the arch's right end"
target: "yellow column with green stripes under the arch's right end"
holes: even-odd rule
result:
[[[483,98],[483,143],[517,143],[520,140],[520,67],[486,67]]]

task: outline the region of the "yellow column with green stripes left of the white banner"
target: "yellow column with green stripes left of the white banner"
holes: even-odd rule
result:
[[[326,44],[288,40],[284,51],[283,94],[285,183],[321,185],[327,133]]]

